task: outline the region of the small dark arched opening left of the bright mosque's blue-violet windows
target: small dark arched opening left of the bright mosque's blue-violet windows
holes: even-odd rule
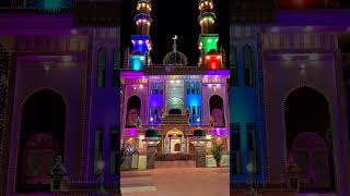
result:
[[[138,96],[131,96],[127,102],[126,127],[136,127],[141,112],[141,99]]]

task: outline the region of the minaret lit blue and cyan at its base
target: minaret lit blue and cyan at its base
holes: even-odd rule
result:
[[[151,0],[139,0],[137,4],[138,13],[133,17],[137,29],[136,35],[131,36],[132,52],[128,54],[128,69],[139,71],[144,65],[151,64],[150,51],[152,49],[150,38],[150,27],[152,4]]]

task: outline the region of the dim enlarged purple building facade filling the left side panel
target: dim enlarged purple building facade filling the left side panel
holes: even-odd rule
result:
[[[49,192],[57,156],[70,189],[96,187],[96,157],[118,189],[119,24],[118,1],[0,10],[0,195]]]

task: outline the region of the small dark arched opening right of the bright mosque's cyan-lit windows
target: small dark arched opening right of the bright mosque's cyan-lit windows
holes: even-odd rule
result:
[[[219,95],[213,95],[209,99],[210,118],[214,127],[224,127],[225,119],[223,112],[223,99]]]

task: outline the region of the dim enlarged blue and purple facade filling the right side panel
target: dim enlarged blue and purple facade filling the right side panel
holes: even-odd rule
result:
[[[285,191],[290,156],[301,170],[300,193],[349,195],[339,42],[349,36],[350,13],[338,5],[332,0],[231,4],[233,195],[243,193],[252,175],[265,195]]]

